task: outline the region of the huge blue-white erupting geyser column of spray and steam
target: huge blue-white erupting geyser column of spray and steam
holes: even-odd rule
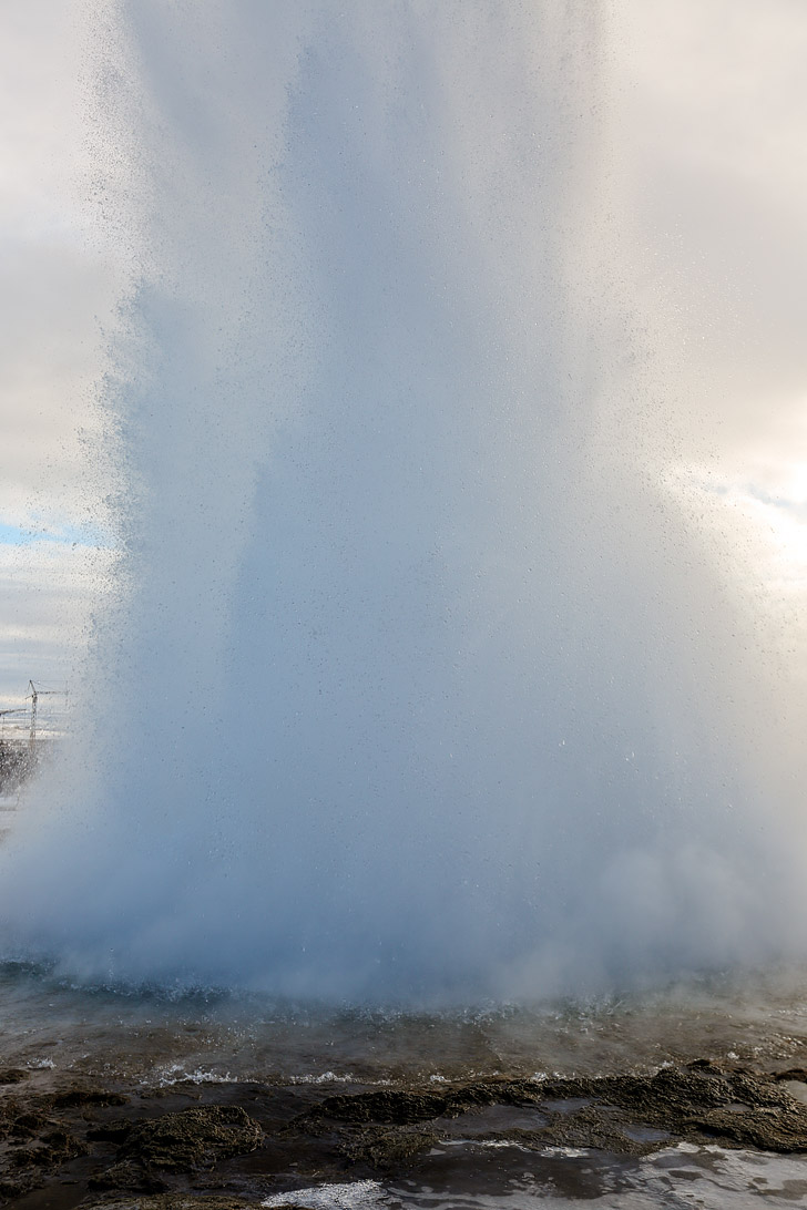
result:
[[[662,485],[599,5],[98,38],[121,599],[6,950],[354,1001],[797,950],[786,719]]]

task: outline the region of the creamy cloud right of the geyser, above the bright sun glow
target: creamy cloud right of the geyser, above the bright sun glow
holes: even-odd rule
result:
[[[673,325],[690,442],[728,477],[765,467],[769,480],[779,463],[807,463],[807,11],[642,0],[626,12],[641,306],[659,341]]]

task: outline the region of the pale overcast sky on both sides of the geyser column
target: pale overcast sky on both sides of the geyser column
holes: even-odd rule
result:
[[[104,5],[98,6],[104,10]],[[111,6],[110,6],[111,7]],[[616,0],[634,295],[686,344],[678,469],[807,590],[807,6]],[[0,707],[69,679],[108,587],[103,328],[126,278],[87,159],[82,5],[0,12]],[[750,520],[749,520],[750,519]],[[767,551],[767,554],[765,554]]]

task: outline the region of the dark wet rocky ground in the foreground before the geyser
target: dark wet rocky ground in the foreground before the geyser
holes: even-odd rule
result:
[[[0,1204],[204,1210],[318,1182],[417,1175],[449,1140],[645,1156],[675,1142],[807,1153],[807,1071],[705,1059],[655,1074],[438,1087],[28,1087],[0,1071]],[[275,1203],[277,1205],[277,1203]]]

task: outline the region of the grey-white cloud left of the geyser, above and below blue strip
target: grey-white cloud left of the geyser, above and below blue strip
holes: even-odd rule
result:
[[[0,707],[31,676],[69,675],[110,560],[13,534],[98,524],[109,490],[97,381],[120,275],[82,200],[77,16],[60,0],[0,16]]]

